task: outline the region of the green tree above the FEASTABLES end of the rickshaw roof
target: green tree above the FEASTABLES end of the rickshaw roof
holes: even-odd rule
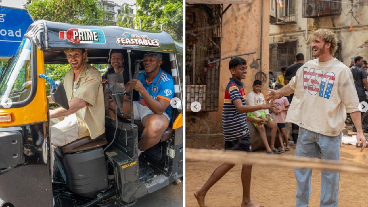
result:
[[[135,22],[141,28],[162,30],[176,39],[183,39],[182,0],[137,0]]]

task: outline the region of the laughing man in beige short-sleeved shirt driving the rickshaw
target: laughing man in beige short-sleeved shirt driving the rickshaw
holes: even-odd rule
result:
[[[50,119],[64,120],[51,126],[52,152],[79,138],[95,139],[105,133],[105,109],[100,72],[87,64],[85,49],[64,49],[72,70],[65,74],[64,87],[69,109],[50,110]],[[51,99],[49,98],[51,102]],[[55,121],[52,120],[54,123]]]

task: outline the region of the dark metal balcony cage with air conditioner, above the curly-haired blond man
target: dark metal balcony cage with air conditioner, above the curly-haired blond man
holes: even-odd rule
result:
[[[315,18],[341,14],[341,0],[303,0],[303,17]]]

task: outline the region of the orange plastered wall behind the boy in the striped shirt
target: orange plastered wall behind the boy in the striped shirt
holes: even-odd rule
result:
[[[263,38],[261,40],[263,1]],[[247,61],[247,78],[243,80],[245,93],[252,90],[255,75],[260,69],[267,74],[263,85],[263,94],[267,93],[269,68],[269,0],[256,0],[251,4],[232,4],[222,17],[221,58],[241,53],[256,52],[254,55],[242,56]],[[223,8],[228,5],[224,4]],[[261,41],[262,64],[261,62]],[[221,115],[223,97],[231,73],[229,61],[221,61],[219,110],[217,112],[186,113],[186,133],[221,133]],[[251,64],[252,63],[252,64]],[[254,68],[251,68],[252,65]],[[256,67],[258,66],[258,67]],[[262,66],[262,67],[261,67]]]

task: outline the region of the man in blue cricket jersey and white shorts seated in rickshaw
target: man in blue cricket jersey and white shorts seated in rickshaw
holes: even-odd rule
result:
[[[159,143],[172,118],[173,108],[170,101],[174,98],[174,80],[160,68],[161,64],[161,54],[145,54],[144,71],[138,74],[138,79],[132,79],[133,89],[139,92],[138,101],[133,102],[134,119],[141,120],[144,126],[138,143],[138,155]],[[125,89],[129,91],[130,84],[125,85]],[[111,102],[109,107],[115,109]],[[124,100],[123,112],[130,114],[130,102],[127,100]],[[107,116],[115,117],[112,110],[107,111]]]

